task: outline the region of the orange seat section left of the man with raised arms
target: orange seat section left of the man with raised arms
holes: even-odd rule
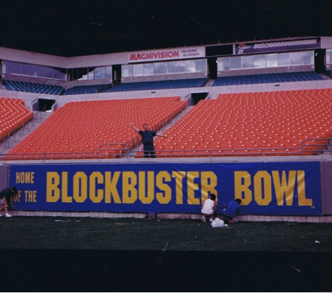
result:
[[[130,122],[157,130],[186,106],[179,96],[66,103],[13,147],[6,159],[20,159],[24,154],[43,159],[99,157],[101,148],[104,155],[120,157],[140,140]]]

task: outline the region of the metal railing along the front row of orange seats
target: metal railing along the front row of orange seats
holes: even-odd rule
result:
[[[320,143],[318,143],[320,142]],[[133,150],[140,144],[140,138],[130,143],[105,143],[99,150],[68,152],[22,152],[0,154],[1,160],[50,160],[50,159],[122,159],[143,158],[142,150]],[[305,156],[332,154],[332,138],[308,138],[301,147],[259,147],[233,149],[195,149],[195,150],[155,150],[156,157],[269,157],[269,156]]]

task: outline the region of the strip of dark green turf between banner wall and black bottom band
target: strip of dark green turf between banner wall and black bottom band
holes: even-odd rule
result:
[[[2,249],[332,251],[331,224],[317,223],[1,217],[0,228]]]

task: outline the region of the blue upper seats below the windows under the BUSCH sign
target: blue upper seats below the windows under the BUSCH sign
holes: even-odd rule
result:
[[[257,75],[236,75],[219,77],[213,82],[212,86],[282,83],[282,82],[301,82],[325,80],[322,75],[314,71],[294,72],[294,73],[268,73]]]

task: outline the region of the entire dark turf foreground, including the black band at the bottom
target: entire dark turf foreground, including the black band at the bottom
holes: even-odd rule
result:
[[[1,292],[331,292],[331,224],[0,218]]]

